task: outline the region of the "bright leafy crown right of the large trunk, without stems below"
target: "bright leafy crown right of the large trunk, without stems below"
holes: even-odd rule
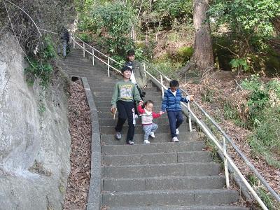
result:
[[[265,37],[274,31],[271,20],[279,15],[280,4],[278,0],[215,0],[209,13],[218,25],[226,23],[232,31]]]

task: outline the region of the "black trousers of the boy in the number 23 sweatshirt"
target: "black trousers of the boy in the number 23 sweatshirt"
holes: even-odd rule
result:
[[[127,141],[133,141],[134,137],[134,123],[133,123],[133,114],[134,114],[134,102],[117,102],[118,109],[118,123],[115,127],[116,132],[121,132],[123,130],[123,124],[125,121],[128,121],[128,131],[127,131]]]

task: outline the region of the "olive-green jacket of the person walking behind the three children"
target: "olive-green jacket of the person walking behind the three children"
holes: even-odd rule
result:
[[[132,71],[134,73],[138,87],[140,89],[144,89],[143,87],[147,85],[147,78],[141,63],[137,60],[134,60],[133,62],[126,62],[125,66],[132,66]]]

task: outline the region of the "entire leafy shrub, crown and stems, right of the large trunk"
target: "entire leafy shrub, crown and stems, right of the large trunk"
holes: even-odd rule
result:
[[[211,2],[209,15],[215,20],[214,25],[217,27],[218,34],[226,31],[223,33],[231,36],[233,45],[230,48],[223,46],[230,49],[229,57],[234,58],[230,64],[235,70],[248,71],[248,53],[253,51],[263,53],[269,50],[267,41],[275,34],[272,20],[279,14],[279,0]],[[253,69],[253,66],[251,67]]]

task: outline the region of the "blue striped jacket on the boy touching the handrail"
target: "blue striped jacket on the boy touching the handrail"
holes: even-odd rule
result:
[[[168,88],[168,90],[165,90],[165,94],[162,99],[162,111],[182,111],[181,102],[188,103],[188,97],[182,97],[179,89],[176,90],[175,97],[170,88]]]

